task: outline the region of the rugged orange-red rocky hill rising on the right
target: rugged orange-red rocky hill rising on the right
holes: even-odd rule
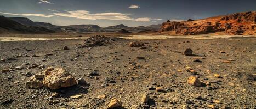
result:
[[[209,17],[183,22],[164,22],[160,32],[175,31],[176,34],[194,35],[224,32],[228,35],[256,34],[256,11]]]

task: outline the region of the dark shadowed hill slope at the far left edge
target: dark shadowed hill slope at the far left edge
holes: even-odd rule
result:
[[[55,31],[44,27],[30,27],[22,25],[7,17],[0,16],[0,32],[1,33],[53,33]]]

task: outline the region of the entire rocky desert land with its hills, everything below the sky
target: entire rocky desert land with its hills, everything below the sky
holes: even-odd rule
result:
[[[256,108],[255,26],[256,11],[136,27],[2,15],[0,108]]]

